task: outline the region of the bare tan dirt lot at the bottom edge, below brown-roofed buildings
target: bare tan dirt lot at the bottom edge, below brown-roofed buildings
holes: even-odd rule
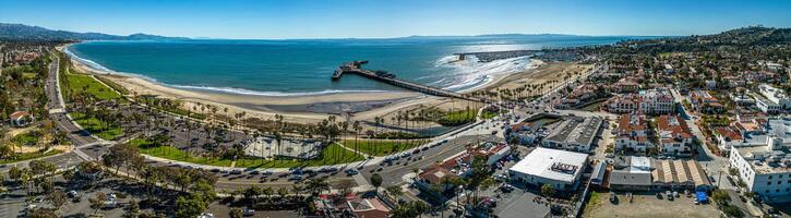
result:
[[[628,203],[624,193],[618,193],[619,203],[610,203],[607,192],[591,195],[583,217],[719,217],[711,204],[693,204],[693,198],[681,196],[675,201],[657,198],[650,193],[635,194]]]

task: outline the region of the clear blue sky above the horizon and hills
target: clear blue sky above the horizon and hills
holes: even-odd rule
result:
[[[0,0],[0,22],[53,29],[212,38],[411,35],[714,34],[791,27],[791,1]]]

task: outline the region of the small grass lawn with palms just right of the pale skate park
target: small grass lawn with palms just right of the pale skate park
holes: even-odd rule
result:
[[[426,144],[427,140],[411,140],[411,141],[391,141],[391,140],[358,140],[357,146],[355,146],[355,140],[344,141],[344,145],[358,152],[373,155],[373,156],[387,156],[394,153],[403,152],[412,147]]]

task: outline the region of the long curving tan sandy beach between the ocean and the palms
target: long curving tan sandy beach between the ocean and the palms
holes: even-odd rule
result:
[[[59,50],[71,58],[70,65],[79,71],[108,78],[127,88],[132,95],[157,95],[163,98],[180,100],[183,102],[184,108],[193,108],[196,105],[214,105],[220,108],[220,111],[224,108],[228,108],[226,116],[232,116],[243,111],[249,117],[268,120],[273,119],[275,114],[281,114],[286,117],[287,121],[298,123],[313,123],[326,119],[329,116],[347,114],[351,120],[362,120],[386,116],[406,107],[431,104],[442,105],[448,100],[444,97],[429,96],[411,90],[351,90],[315,95],[271,96],[173,87],[143,75],[120,73],[109,69],[97,69],[97,66],[93,66],[96,63],[86,63],[86,61],[92,61],[82,59],[71,51],[67,51],[71,45],[62,46]],[[515,72],[499,72],[496,75],[491,75],[492,77],[484,84],[460,90],[459,93],[490,89],[493,85],[499,84],[508,76],[532,71],[540,64],[543,64],[543,62],[530,59],[530,63],[526,69]]]

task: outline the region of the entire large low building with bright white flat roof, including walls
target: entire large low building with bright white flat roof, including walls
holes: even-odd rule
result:
[[[588,155],[538,147],[508,169],[511,178],[527,184],[550,184],[556,190],[575,190]]]

